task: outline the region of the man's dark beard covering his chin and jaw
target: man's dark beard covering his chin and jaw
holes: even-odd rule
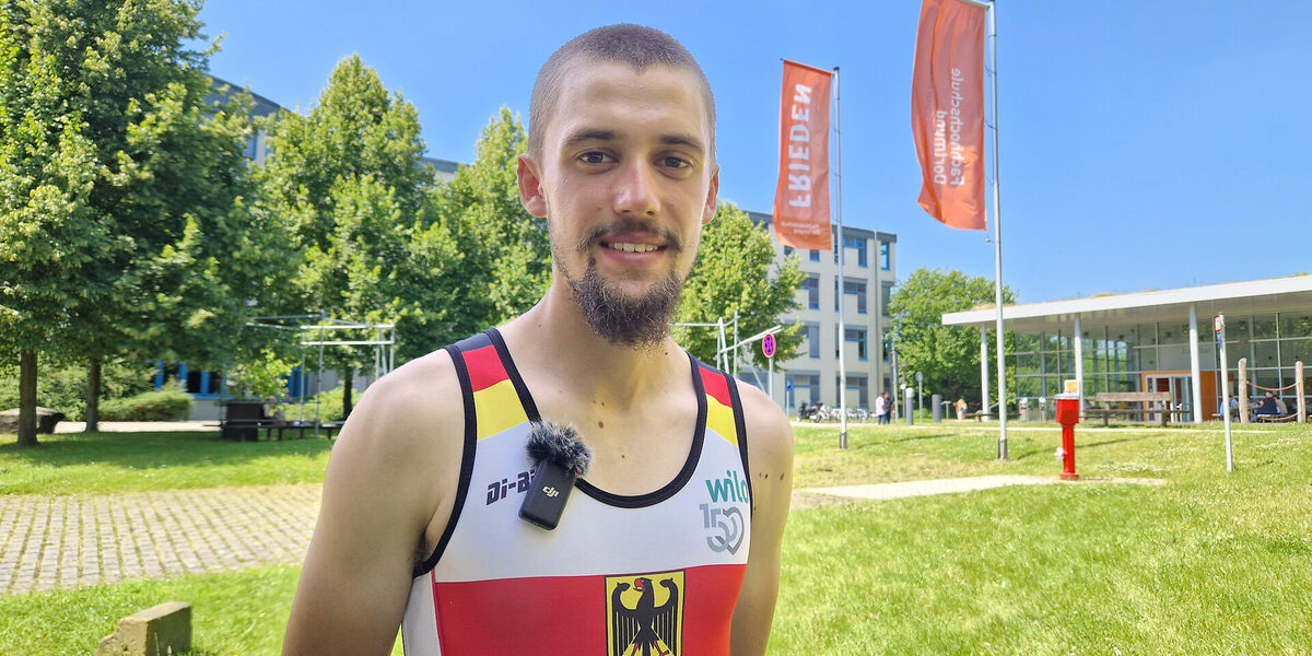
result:
[[[565,281],[592,332],[611,344],[638,349],[656,346],[669,335],[669,320],[684,289],[678,274],[669,272],[640,298],[628,298],[597,274],[596,261],[588,262],[581,279],[567,276]]]

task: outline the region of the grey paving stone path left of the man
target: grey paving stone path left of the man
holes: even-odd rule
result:
[[[0,496],[0,594],[299,563],[319,485]]]

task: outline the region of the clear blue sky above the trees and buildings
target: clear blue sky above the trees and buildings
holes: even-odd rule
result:
[[[546,58],[600,25],[678,38],[715,91],[720,198],[769,211],[781,59],[841,70],[844,222],[920,266],[993,277],[988,234],[917,205],[918,0],[210,0],[211,72],[308,108],[358,52],[419,109],[428,154],[470,161]],[[1022,302],[1312,272],[1312,3],[1001,0],[1002,279]],[[525,121],[527,122],[527,121]],[[992,222],[992,207],[989,220]]]

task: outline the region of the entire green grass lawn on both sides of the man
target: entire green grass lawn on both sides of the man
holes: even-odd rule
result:
[[[794,484],[1055,476],[1059,433],[1015,428],[997,462],[987,425],[857,425],[846,451],[836,426],[800,426]],[[1312,653],[1312,428],[1236,426],[1233,474],[1208,428],[1077,429],[1076,483],[795,510],[770,653]],[[0,489],[314,482],[328,453],[184,433],[45,441],[26,451],[0,436]],[[194,604],[195,653],[273,655],[295,576],[0,597],[0,653],[88,653],[118,617],[181,600]]]

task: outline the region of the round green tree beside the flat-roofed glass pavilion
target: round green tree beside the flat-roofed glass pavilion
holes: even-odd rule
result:
[[[916,269],[892,293],[892,315],[897,365],[908,374],[925,374],[925,388],[945,399],[980,398],[980,335],[975,328],[943,325],[943,315],[980,304],[992,306],[993,281],[958,270]],[[1015,295],[1002,287],[1004,303]],[[992,337],[989,344],[992,345]],[[1012,340],[1008,340],[1008,350]],[[996,362],[996,353],[989,359]],[[1010,374],[1009,374],[1010,377]],[[1012,390],[1014,382],[1009,383]]]

